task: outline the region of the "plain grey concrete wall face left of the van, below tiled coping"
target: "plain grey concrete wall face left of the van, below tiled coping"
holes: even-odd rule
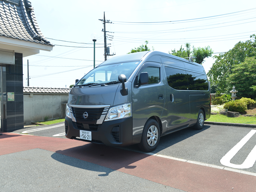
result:
[[[68,94],[24,94],[24,124],[65,118]]]

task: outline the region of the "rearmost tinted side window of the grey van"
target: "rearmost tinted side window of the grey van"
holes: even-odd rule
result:
[[[187,71],[189,90],[208,91],[208,80],[205,74]]]

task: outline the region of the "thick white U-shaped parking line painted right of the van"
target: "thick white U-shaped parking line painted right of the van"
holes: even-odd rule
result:
[[[230,160],[237,154],[237,152],[248,142],[248,140],[256,133],[256,130],[251,130],[238,144],[236,144],[222,159],[220,163],[224,166],[237,168],[237,169],[247,169],[254,165],[256,161],[256,145],[251,150],[247,158],[240,165],[230,163]]]

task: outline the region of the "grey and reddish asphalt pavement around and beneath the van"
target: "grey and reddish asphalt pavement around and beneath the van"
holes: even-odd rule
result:
[[[54,136],[52,126],[59,134],[64,130],[59,123],[2,132],[0,191],[256,192],[255,166],[242,171],[220,164],[220,158],[255,128],[188,128],[161,137],[157,150],[144,154],[135,146],[112,148]],[[255,135],[246,144],[248,150],[254,141]],[[241,164],[244,159],[238,157],[232,163]]]

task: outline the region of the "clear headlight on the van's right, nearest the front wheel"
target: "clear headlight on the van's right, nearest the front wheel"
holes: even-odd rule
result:
[[[116,107],[112,107],[108,110],[105,121],[122,119],[132,116],[132,106],[131,103],[126,103]]]

